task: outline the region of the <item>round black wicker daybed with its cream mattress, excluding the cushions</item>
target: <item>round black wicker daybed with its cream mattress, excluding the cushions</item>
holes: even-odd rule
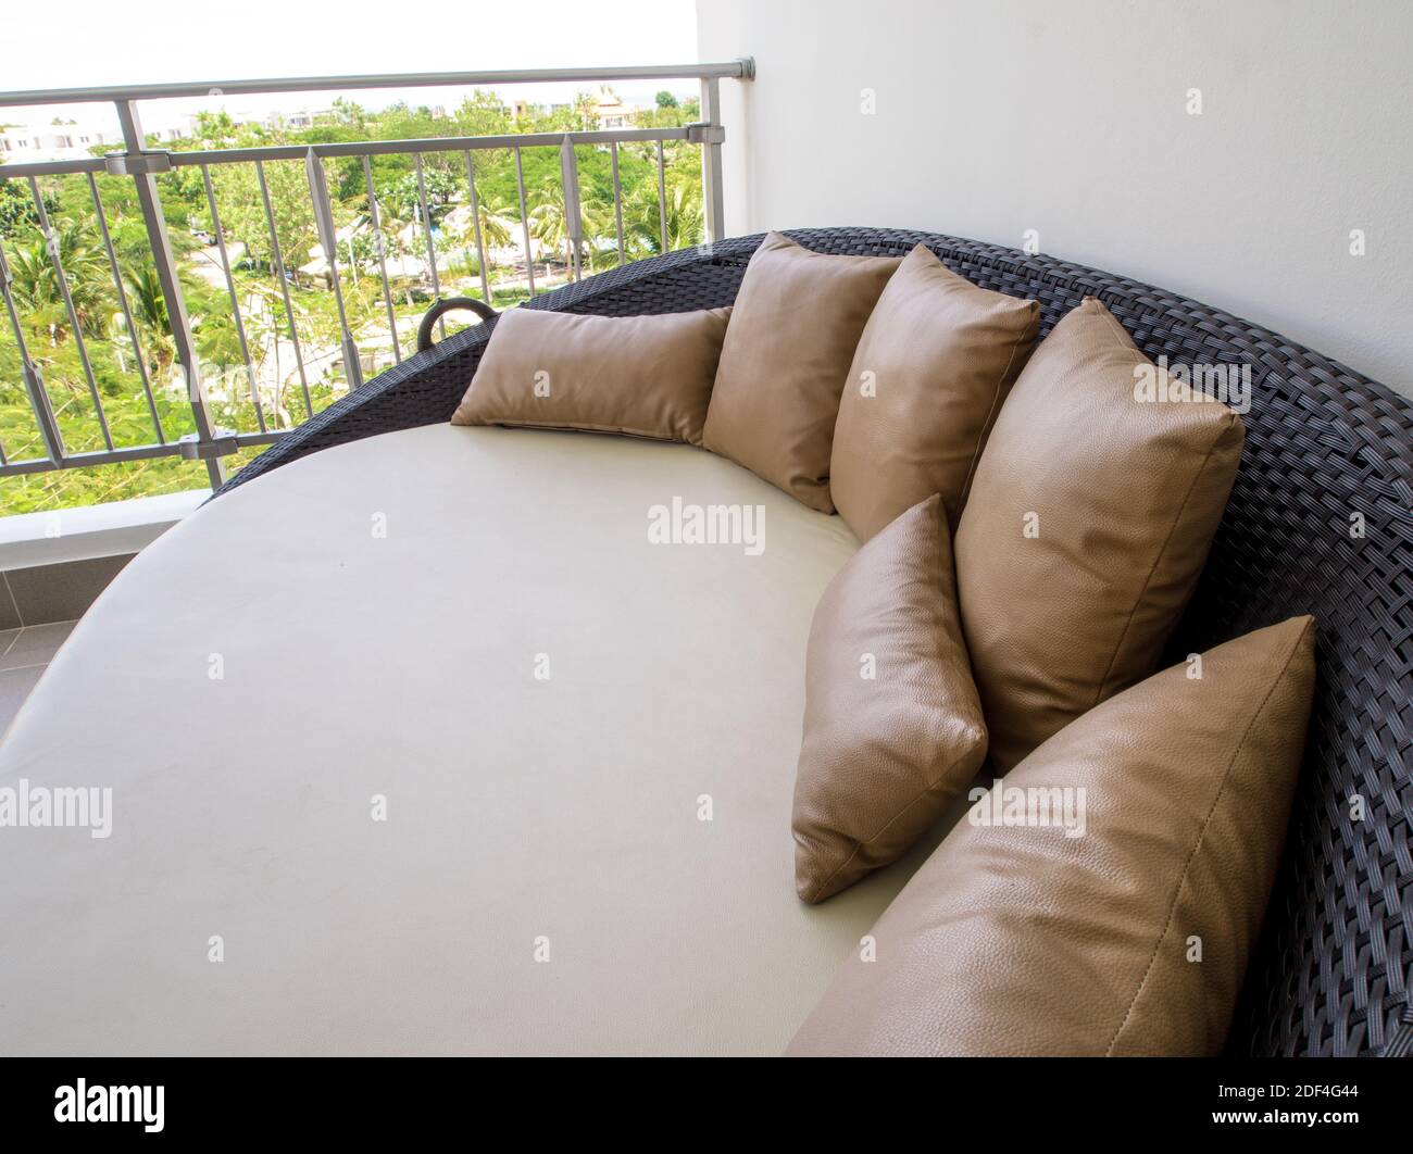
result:
[[[1152,357],[1252,367],[1170,653],[1313,613],[1320,672],[1228,1047],[1406,1051],[1413,404],[1050,257],[791,236],[923,242],[1039,299],[1041,335],[1098,297]],[[726,305],[759,240],[527,308]],[[0,781],[112,785],[114,826],[0,838],[6,1051],[774,1054],[926,859],[935,836],[818,907],[791,886],[804,643],[849,530],[684,445],[448,425],[492,326],[271,448],[54,660]],[[766,506],[769,548],[650,547],[646,510],[674,496]]]

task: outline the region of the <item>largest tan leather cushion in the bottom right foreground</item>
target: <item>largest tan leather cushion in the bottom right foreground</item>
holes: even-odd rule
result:
[[[1119,694],[1017,766],[1006,790],[1085,790],[1082,836],[969,815],[873,927],[877,960],[844,963],[790,1052],[1221,1051],[1304,747],[1313,620],[1188,672]]]

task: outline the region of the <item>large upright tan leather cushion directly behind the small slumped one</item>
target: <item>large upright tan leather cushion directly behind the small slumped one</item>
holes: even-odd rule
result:
[[[1241,418],[1137,400],[1140,367],[1159,371],[1087,299],[1030,357],[976,468],[957,589],[1000,770],[1153,672],[1226,506]]]

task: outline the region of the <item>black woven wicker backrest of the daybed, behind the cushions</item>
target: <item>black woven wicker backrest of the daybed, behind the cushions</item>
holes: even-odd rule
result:
[[[1040,302],[1041,333],[1098,297],[1152,357],[1249,364],[1246,449],[1170,658],[1294,613],[1318,684],[1286,853],[1228,1048],[1407,1052],[1413,1042],[1413,403],[1266,329],[1146,284],[948,236],[814,229],[825,253],[918,242],[979,285]],[[627,316],[731,304],[759,236],[591,277],[526,308]],[[372,434],[445,421],[495,322],[418,353],[308,421],[220,492]],[[1355,535],[1352,514],[1364,518]],[[1362,801],[1355,818],[1354,798]]]

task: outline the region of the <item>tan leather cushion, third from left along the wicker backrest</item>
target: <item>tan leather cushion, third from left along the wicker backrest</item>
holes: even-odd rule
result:
[[[829,494],[861,541],[930,493],[955,527],[1040,305],[978,288],[918,244],[853,353],[834,427]]]

